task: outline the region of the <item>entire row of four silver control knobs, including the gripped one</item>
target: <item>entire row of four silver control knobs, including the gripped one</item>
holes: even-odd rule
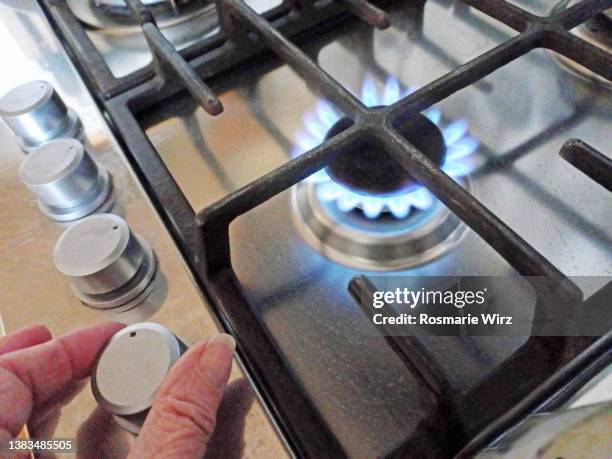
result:
[[[40,210],[53,220],[78,220],[53,250],[55,266],[74,294],[98,310],[123,312],[141,304],[153,289],[155,254],[123,218],[99,213],[110,207],[112,180],[81,143],[75,112],[49,83],[32,81],[0,98],[0,117],[26,153],[19,173]],[[159,324],[121,330],[97,360],[92,375],[96,401],[119,425],[137,433],[154,394],[186,349]]]

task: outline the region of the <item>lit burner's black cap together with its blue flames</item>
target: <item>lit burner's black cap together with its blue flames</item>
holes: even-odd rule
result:
[[[402,89],[396,79],[389,78],[384,91],[379,94],[373,79],[366,77],[361,100],[369,107],[389,105],[412,91],[411,88]],[[319,100],[315,109],[304,116],[305,130],[296,136],[293,156],[301,155],[319,145],[328,135],[335,134],[336,130],[342,130],[346,122],[343,120],[346,118],[330,103]],[[401,132],[431,159],[442,164],[442,170],[451,177],[458,179],[471,172],[469,156],[478,149],[478,141],[468,134],[465,120],[443,123],[441,110],[432,107],[415,117],[413,123],[406,123]],[[357,210],[368,219],[389,215],[404,219],[412,210],[431,207],[435,201],[431,193],[418,186],[409,174],[384,156],[366,146],[363,152],[356,153],[357,167],[354,162],[332,163],[306,181],[320,185],[317,187],[318,199],[333,203],[343,212]],[[378,164],[369,168],[374,159]],[[389,174],[387,177],[384,176],[386,173]]]

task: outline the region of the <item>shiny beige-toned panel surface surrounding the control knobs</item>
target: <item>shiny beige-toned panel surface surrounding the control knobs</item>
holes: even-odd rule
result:
[[[11,4],[19,4],[19,11]],[[146,311],[105,317],[84,306],[73,295],[67,279],[53,266],[53,246],[66,224],[53,222],[38,210],[33,195],[19,179],[23,153],[8,127],[0,122],[0,313],[6,331],[10,333],[28,324],[44,324],[57,336],[104,320],[133,322],[139,315],[143,319],[152,313],[147,321],[167,326],[187,343],[217,332],[218,326],[208,305],[194,286],[166,228],[127,166],[117,142],[36,2],[1,3],[0,21],[4,59],[0,94],[33,79],[47,80],[54,85],[81,117],[86,145],[93,158],[113,176],[112,211],[123,216],[134,232],[150,242],[163,274],[163,282]],[[232,380],[242,378],[244,375],[235,364]],[[132,441],[130,434],[96,407],[89,384],[62,409],[52,436],[77,437],[80,455],[90,452],[98,457],[107,448],[112,457],[121,456]],[[246,416],[244,440],[245,457],[287,456],[258,401]]]

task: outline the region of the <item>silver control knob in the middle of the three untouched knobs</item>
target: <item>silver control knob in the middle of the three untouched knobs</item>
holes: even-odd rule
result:
[[[100,208],[111,190],[109,174],[75,139],[51,140],[24,158],[21,180],[48,217],[68,221]]]

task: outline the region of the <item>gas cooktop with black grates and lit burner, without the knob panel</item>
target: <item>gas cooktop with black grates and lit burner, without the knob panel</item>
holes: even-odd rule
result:
[[[296,454],[473,454],[609,363],[610,332],[383,337],[355,298],[611,298],[612,1],[168,3],[41,0]]]

